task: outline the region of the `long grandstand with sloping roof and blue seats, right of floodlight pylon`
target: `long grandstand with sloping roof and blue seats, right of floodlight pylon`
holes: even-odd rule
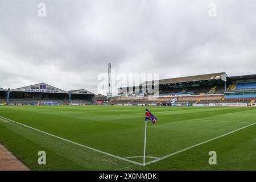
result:
[[[157,81],[152,81],[152,85],[154,82]],[[141,85],[147,85],[147,82]],[[158,81],[159,91],[156,92],[155,97],[153,94],[143,94],[141,85],[118,88],[118,93],[121,93],[119,96],[122,97],[110,100],[110,103],[133,105],[151,102],[157,105],[209,105],[234,102],[252,104],[256,100],[256,75],[229,77],[222,72],[163,79]],[[130,90],[136,91],[130,92]]]

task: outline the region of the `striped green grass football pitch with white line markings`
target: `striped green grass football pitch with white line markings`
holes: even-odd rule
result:
[[[256,170],[255,123],[256,107],[0,106],[0,142],[32,170]]]

